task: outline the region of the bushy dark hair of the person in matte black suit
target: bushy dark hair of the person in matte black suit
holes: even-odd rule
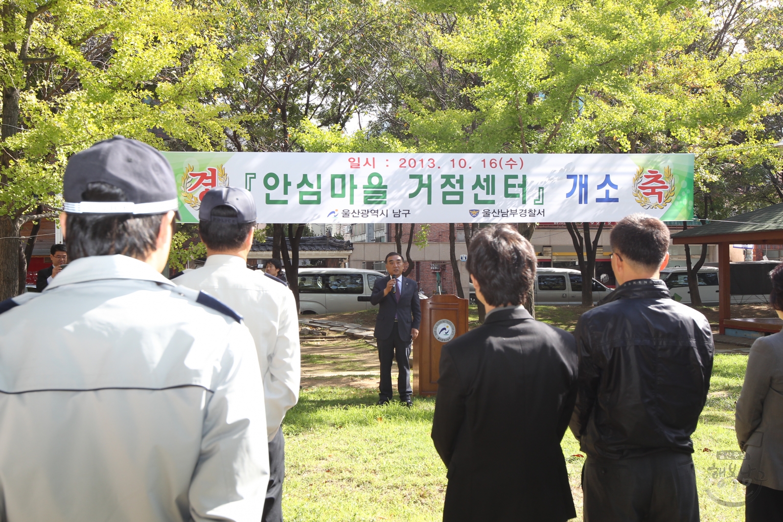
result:
[[[525,304],[536,277],[536,250],[511,225],[492,225],[471,239],[466,266],[487,304]]]

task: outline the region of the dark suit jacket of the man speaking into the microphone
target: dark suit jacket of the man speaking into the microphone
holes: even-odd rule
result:
[[[390,275],[375,279],[373,294],[370,296],[370,303],[381,304],[375,318],[375,337],[377,339],[391,337],[391,327],[394,326],[394,316],[397,315],[400,339],[410,340],[410,329],[419,329],[421,325],[419,286],[413,279],[400,275],[402,291],[399,294],[398,302],[391,292],[384,297],[384,289],[389,279],[391,279]]]

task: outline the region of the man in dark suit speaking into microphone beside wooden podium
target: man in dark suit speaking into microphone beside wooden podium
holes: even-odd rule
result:
[[[378,340],[378,358],[381,359],[381,393],[378,405],[391,401],[391,362],[397,358],[399,400],[406,406],[413,404],[410,387],[410,343],[419,335],[421,305],[419,286],[413,279],[402,277],[402,256],[396,252],[386,255],[388,277],[375,279],[370,303],[381,304],[375,319],[375,337]]]

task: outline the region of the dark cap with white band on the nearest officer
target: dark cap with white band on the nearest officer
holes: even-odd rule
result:
[[[125,201],[85,201],[87,184],[105,182]],[[68,160],[63,177],[63,210],[68,214],[162,214],[179,203],[174,171],[163,154],[124,136],[97,142]]]

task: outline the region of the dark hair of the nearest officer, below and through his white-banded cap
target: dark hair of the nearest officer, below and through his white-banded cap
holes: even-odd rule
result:
[[[125,201],[126,198],[124,191],[115,185],[89,182],[81,200]],[[164,214],[67,214],[68,257],[75,261],[80,257],[123,254],[143,259],[157,247]]]

